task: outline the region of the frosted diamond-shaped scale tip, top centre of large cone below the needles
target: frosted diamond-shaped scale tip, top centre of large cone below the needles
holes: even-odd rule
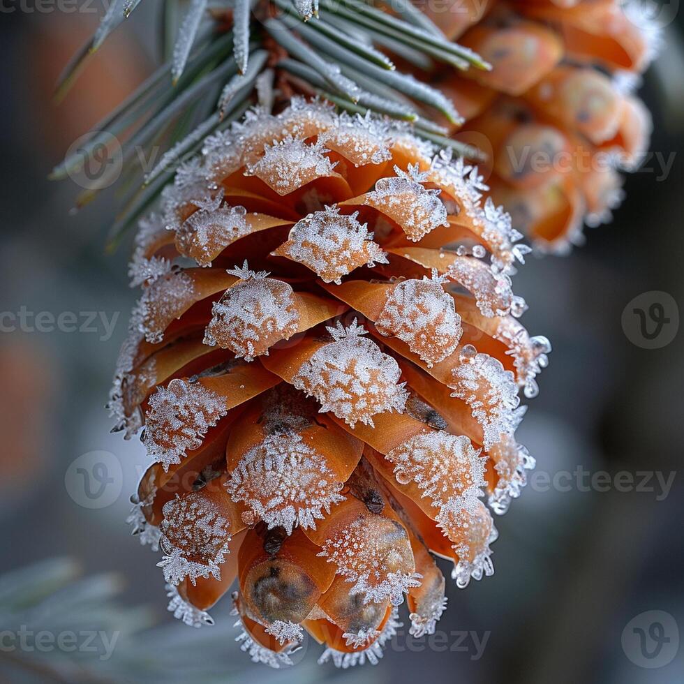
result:
[[[292,136],[267,145],[264,155],[247,166],[250,175],[257,176],[278,193],[289,195],[311,181],[332,174],[335,164],[325,153],[322,142],[308,144]]]

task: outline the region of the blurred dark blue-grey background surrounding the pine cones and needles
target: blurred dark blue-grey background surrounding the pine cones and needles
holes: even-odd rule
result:
[[[151,27],[161,3],[136,11],[54,107],[54,82],[102,3],[84,12],[2,1],[0,312],[12,316],[0,320],[0,681],[205,684],[248,673],[253,681],[684,682],[684,355],[674,315],[684,302],[681,13],[641,91],[655,121],[650,149],[674,155],[671,169],[647,161],[627,178],[611,225],[588,229],[570,258],[530,258],[514,280],[530,305],[523,322],[549,337],[553,354],[518,433],[537,475],[496,520],[496,574],[466,590],[452,583],[440,633],[418,641],[400,630],[377,667],[317,669],[320,647],[309,641],[306,664],[278,672],[239,652],[227,605],[212,611],[215,627],[177,623],[156,554],[129,535],[128,496],[146,456],[137,438],[109,433],[103,408],[135,299],[128,245],[103,247],[114,198],[70,215],[79,188],[47,180],[156,64]],[[634,308],[653,303],[669,321],[664,345],[644,348],[653,344]],[[73,473],[96,462],[112,482],[93,470],[91,489],[107,489],[89,498]],[[106,659],[47,646],[20,653],[4,637],[22,625],[117,630],[121,639]]]

